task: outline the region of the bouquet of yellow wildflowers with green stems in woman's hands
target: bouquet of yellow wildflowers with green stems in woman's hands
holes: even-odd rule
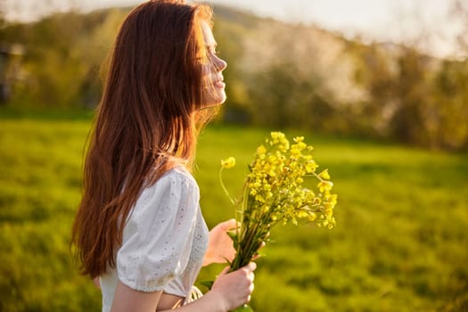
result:
[[[328,170],[316,173],[318,165],[312,157],[313,147],[298,136],[290,144],[281,132],[272,132],[250,163],[249,173],[242,188],[242,197],[234,200],[223,184],[222,171],[233,168],[235,159],[221,160],[221,186],[235,207],[238,226],[229,236],[236,254],[230,262],[231,271],[249,264],[276,224],[291,222],[298,225],[305,219],[316,226],[333,228],[333,209],[337,195],[331,193],[333,182]],[[318,180],[316,191],[304,186],[306,177]],[[242,307],[249,310],[249,307]],[[250,309],[251,310],[251,309]]]

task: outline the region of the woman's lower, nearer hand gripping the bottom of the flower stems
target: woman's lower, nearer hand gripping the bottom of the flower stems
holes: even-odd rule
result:
[[[257,265],[250,262],[247,266],[231,273],[227,273],[229,267],[226,267],[218,275],[209,293],[220,300],[223,310],[230,311],[250,301],[250,294],[253,291],[253,271],[256,268]]]

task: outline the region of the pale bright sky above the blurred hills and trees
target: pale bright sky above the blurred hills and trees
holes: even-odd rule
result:
[[[12,19],[30,20],[45,8],[81,11],[110,6],[135,6],[135,0],[0,0]],[[200,2],[200,1],[193,1]],[[227,4],[282,21],[315,24],[346,37],[365,40],[415,42],[425,51],[457,55],[456,34],[461,25],[450,15],[451,0],[205,0]],[[468,4],[468,0],[463,0]],[[46,5],[45,5],[46,4]]]

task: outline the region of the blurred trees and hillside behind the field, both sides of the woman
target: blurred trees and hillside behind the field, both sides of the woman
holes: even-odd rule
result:
[[[466,58],[441,60],[411,45],[363,44],[313,26],[215,11],[215,36],[229,64],[219,121],[468,149]],[[94,107],[103,60],[127,12],[4,25],[0,42],[25,51],[9,105]]]

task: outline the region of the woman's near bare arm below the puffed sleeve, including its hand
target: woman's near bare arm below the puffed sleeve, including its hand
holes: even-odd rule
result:
[[[226,267],[215,283],[211,291],[208,291],[201,299],[194,300],[186,306],[177,308],[181,312],[227,312],[242,306],[250,300],[253,291],[253,271],[255,263],[227,273]],[[135,291],[124,283],[119,282],[112,302],[112,312],[164,312],[157,310],[162,291],[143,292]]]

